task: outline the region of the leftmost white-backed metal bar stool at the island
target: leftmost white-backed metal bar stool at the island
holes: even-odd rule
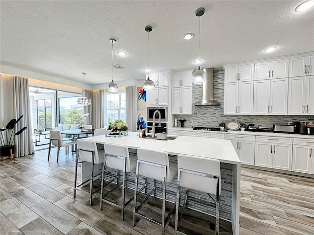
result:
[[[88,162],[91,163],[90,169],[90,178],[77,185],[77,175],[78,175],[78,164]],[[77,140],[77,157],[75,161],[75,176],[74,176],[74,194],[73,198],[76,197],[76,190],[80,190],[84,193],[90,194],[90,205],[93,205],[93,194],[97,192],[100,188],[97,188],[93,191],[93,181],[98,179],[101,172],[94,175],[94,166],[95,164],[103,164],[104,163],[104,152],[98,151],[96,142],[94,141],[86,141],[82,139]],[[104,164],[103,164],[104,165]],[[80,186],[90,183],[89,191],[86,191]]]

